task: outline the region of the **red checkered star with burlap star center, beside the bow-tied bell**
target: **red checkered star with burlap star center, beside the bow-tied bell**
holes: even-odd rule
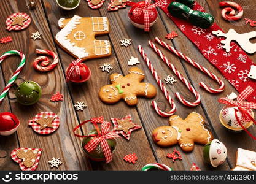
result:
[[[132,131],[141,128],[141,126],[136,125],[135,123],[133,123],[133,121],[131,121],[131,115],[130,114],[126,115],[126,117],[124,117],[122,119],[111,118],[111,120],[112,120],[112,123],[114,124],[114,129],[113,130],[117,134],[122,134],[123,137],[125,137],[125,139],[127,139],[127,140],[130,139]],[[123,122],[123,123],[120,123],[120,122]],[[131,126],[131,125],[133,125],[133,126]],[[127,131],[127,128],[128,128],[128,131]]]

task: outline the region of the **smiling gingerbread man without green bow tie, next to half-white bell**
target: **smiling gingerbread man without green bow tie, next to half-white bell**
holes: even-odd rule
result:
[[[160,126],[152,132],[156,144],[168,147],[179,144],[183,151],[190,152],[195,143],[207,144],[213,137],[204,128],[204,118],[196,112],[190,113],[185,120],[178,115],[169,118],[170,126]]]

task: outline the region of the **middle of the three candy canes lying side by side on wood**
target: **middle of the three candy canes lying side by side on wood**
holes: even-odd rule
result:
[[[157,48],[157,46],[155,46],[155,44],[153,44],[153,42],[149,41],[149,45],[153,48],[153,50],[155,50],[155,52],[157,52],[157,54],[160,56],[163,62],[169,66],[169,68],[174,72],[174,74],[177,77],[179,77],[179,79],[187,86],[188,90],[191,91],[196,98],[195,102],[188,102],[184,99],[183,96],[180,96],[179,92],[176,92],[175,95],[179,99],[179,101],[182,102],[182,104],[187,105],[188,107],[196,107],[197,105],[199,105],[201,103],[200,94],[195,90],[195,88],[193,88],[193,86],[187,81],[187,79],[185,79],[185,77],[182,74],[180,74],[180,72],[171,63],[171,61],[169,61],[165,57],[165,55],[163,55],[163,53]]]

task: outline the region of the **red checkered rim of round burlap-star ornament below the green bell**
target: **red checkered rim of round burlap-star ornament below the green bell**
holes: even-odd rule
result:
[[[44,129],[40,129],[40,125],[36,123],[36,121],[42,117],[50,117],[50,118],[55,117],[55,119],[52,121],[53,128],[45,127]],[[41,112],[41,113],[38,113],[32,120],[29,120],[28,125],[31,126],[33,130],[38,134],[44,134],[44,135],[52,134],[53,132],[56,131],[56,129],[59,128],[60,118],[58,117],[58,115],[56,115],[53,112]]]

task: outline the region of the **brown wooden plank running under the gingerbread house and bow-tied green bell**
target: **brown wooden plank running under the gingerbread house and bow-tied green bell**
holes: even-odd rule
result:
[[[57,24],[59,18],[72,18],[73,15],[79,15],[81,17],[101,16],[98,10],[91,10],[88,7],[87,2],[84,1],[80,2],[80,6],[76,10],[71,10],[69,12],[61,10],[53,1],[44,0],[44,5],[48,15],[48,20],[50,22],[50,25],[52,25],[51,28],[53,36],[55,36],[58,32]],[[106,7],[103,8],[105,9]],[[114,30],[115,28],[111,25],[110,34],[116,34]],[[102,36],[98,39],[108,40],[109,37]],[[74,58],[69,56],[59,47],[58,52],[60,53],[61,61],[65,69]],[[134,123],[138,123],[139,125],[141,125],[141,120],[138,113],[136,112],[136,108],[128,107],[123,101],[120,101],[114,105],[103,104],[103,102],[101,102],[98,98],[99,88],[101,88],[101,86],[103,85],[109,84],[109,75],[115,72],[122,73],[118,65],[115,53],[112,52],[112,56],[109,58],[91,59],[89,61],[86,61],[85,63],[91,69],[91,79],[82,85],[76,85],[72,83],[68,84],[70,91],[72,91],[71,95],[73,101],[84,101],[88,105],[87,109],[83,110],[83,112],[77,112],[79,120],[88,120],[91,117],[103,115],[105,120],[111,121],[111,117],[122,118],[125,117],[125,115],[127,115],[128,113],[131,113],[131,117],[133,118]],[[109,74],[107,74],[106,72],[101,72],[99,66],[101,66],[103,63],[111,63],[114,69],[109,72]],[[90,131],[92,127],[92,125],[85,126],[83,132]],[[133,152],[138,155],[138,161],[136,162],[136,164],[128,164],[123,161],[123,156]],[[133,132],[129,141],[126,141],[123,137],[117,139],[117,150],[113,155],[113,161],[111,163],[106,164],[91,162],[91,165],[95,170],[141,170],[142,166],[144,166],[145,164],[154,162],[155,158],[147,141],[147,137],[145,136],[144,129],[142,128],[141,130]]]

